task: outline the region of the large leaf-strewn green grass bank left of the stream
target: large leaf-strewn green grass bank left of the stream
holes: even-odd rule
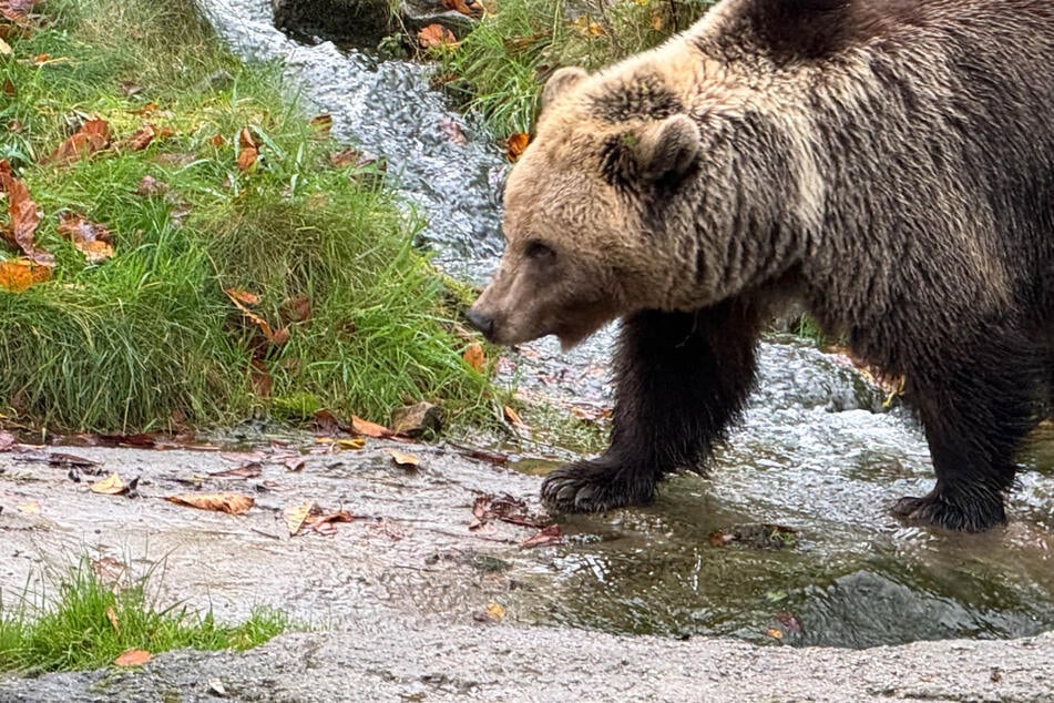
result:
[[[0,55],[0,85],[11,86],[0,92],[0,159],[42,210],[37,242],[58,265],[53,281],[0,289],[0,414],[132,431],[311,397],[378,421],[421,399],[456,420],[485,417],[490,385],[461,360],[443,279],[411,246],[422,223],[376,167],[331,163],[342,146],[308,124],[278,67],[238,62],[191,0],[38,10],[45,21],[10,34],[14,55]],[[51,61],[35,65],[40,54]],[[174,135],[44,165],[85,116],[106,120],[115,141],[146,122]],[[244,128],[259,143],[245,173]],[[145,176],[166,192],[136,194]],[[86,264],[55,232],[62,210],[106,225],[115,256]],[[0,243],[0,258],[16,256]],[[268,343],[225,288],[258,294],[254,312],[288,326],[288,343]],[[310,315],[291,319],[289,302],[304,296]]]

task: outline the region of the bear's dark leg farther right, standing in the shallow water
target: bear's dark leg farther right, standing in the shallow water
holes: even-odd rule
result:
[[[982,345],[966,347],[979,358]],[[1022,344],[991,345],[988,363],[941,359],[941,376],[909,370],[909,397],[919,410],[937,486],[900,499],[893,512],[912,522],[979,532],[1006,520],[1004,498],[1014,482],[1014,454],[1035,425],[1038,366]],[[913,379],[912,379],[913,378]]]

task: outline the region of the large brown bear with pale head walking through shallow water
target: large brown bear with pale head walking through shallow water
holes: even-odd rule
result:
[[[1054,376],[1054,2],[724,0],[550,79],[503,230],[469,312],[488,338],[622,318],[611,447],[550,475],[550,506],[698,468],[798,300],[905,379],[937,486],[894,512],[990,528]]]

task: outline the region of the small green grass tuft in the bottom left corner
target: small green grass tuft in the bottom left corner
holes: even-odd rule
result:
[[[58,580],[53,598],[0,600],[0,671],[37,675],[99,669],[129,650],[246,650],[290,628],[284,613],[269,608],[254,609],[237,624],[185,605],[157,610],[145,579],[111,585],[85,560]]]

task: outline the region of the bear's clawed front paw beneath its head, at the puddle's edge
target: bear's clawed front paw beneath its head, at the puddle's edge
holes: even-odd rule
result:
[[[603,512],[654,497],[654,479],[600,461],[561,467],[542,482],[542,501],[557,512]]]

